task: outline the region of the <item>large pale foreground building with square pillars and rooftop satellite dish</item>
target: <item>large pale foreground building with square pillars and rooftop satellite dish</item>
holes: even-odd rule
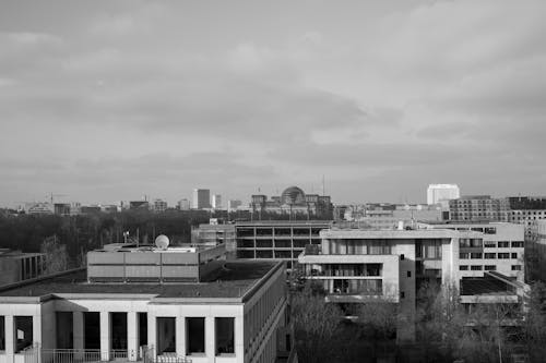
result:
[[[297,362],[285,265],[221,247],[107,246],[87,269],[0,290],[0,360]]]

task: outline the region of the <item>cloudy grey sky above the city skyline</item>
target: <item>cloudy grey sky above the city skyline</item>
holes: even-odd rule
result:
[[[0,205],[546,194],[546,2],[0,1]]]

